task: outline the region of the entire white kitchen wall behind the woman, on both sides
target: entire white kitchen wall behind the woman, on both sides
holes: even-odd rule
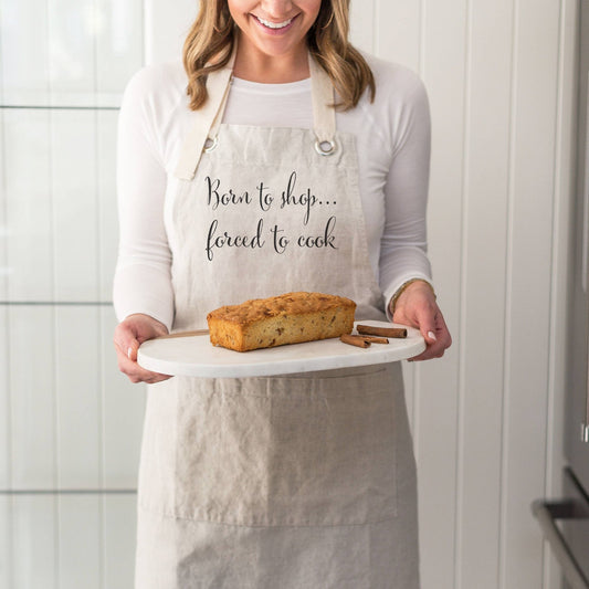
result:
[[[362,49],[418,71],[430,250],[454,335],[407,366],[424,589],[554,589],[577,0],[353,0]],[[126,80],[196,12],[0,0],[0,587],[128,588],[141,387],[117,375],[114,149]]]

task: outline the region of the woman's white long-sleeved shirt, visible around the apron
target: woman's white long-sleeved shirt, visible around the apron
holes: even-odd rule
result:
[[[383,305],[410,278],[431,282],[425,208],[430,115],[419,77],[366,56],[376,98],[337,112],[338,130],[356,136],[359,187],[372,271]],[[168,176],[175,170],[190,111],[181,64],[146,67],[129,82],[119,114],[117,189],[119,254],[114,304],[119,320],[150,315],[173,320],[171,253],[164,224]],[[259,84],[234,78],[223,123],[312,128],[311,80]]]

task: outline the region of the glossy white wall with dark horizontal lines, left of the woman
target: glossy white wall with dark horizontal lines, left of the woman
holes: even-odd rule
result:
[[[117,374],[117,105],[140,0],[0,0],[0,587],[133,586],[144,395]]]

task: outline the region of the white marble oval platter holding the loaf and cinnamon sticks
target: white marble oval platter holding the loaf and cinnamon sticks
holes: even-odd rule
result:
[[[357,323],[379,327],[395,326],[375,320]],[[334,338],[251,351],[234,351],[213,346],[208,334],[150,339],[140,346],[137,361],[139,366],[154,372],[202,378],[312,372],[387,364],[417,356],[425,349],[423,337],[411,327],[408,327],[407,332],[407,338],[389,338],[389,344],[372,344],[369,348],[358,348]]]

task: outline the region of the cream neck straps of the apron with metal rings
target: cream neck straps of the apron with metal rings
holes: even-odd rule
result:
[[[219,127],[229,96],[233,77],[236,43],[228,64],[207,78],[208,99],[194,113],[192,128],[188,132],[180,151],[176,176],[182,180],[192,180],[203,151],[212,151],[217,147]],[[335,95],[332,81],[327,73],[308,54],[311,72],[311,93],[313,101],[313,127],[315,132],[315,149],[323,156],[335,151],[336,113]]]

